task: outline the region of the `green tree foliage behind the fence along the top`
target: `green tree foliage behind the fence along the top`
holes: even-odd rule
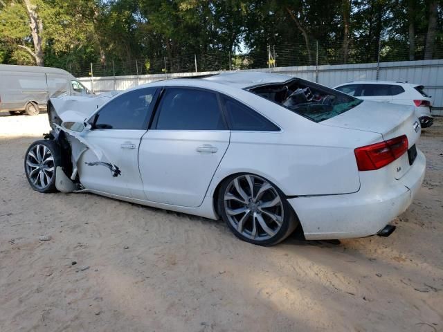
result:
[[[94,62],[100,63],[104,74],[120,75],[127,73],[126,68],[134,73],[135,59],[143,59],[137,66],[142,73],[193,71],[194,55],[199,70],[228,69],[229,64],[231,68],[266,67],[269,45],[278,48],[277,66],[313,64],[316,42],[320,62],[342,63],[345,40],[350,63],[376,61],[380,41],[381,60],[407,59],[411,22],[413,53],[420,58],[432,0],[29,1],[42,20],[46,66],[80,75],[80,69],[89,72],[89,63]],[[440,2],[434,53],[442,57]],[[346,10],[350,15],[347,36]],[[22,0],[0,1],[1,63],[34,63],[29,21]],[[238,55],[239,50],[248,55]]]

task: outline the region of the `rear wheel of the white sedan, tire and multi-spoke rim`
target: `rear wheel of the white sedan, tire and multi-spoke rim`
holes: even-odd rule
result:
[[[255,174],[226,178],[219,187],[217,208],[236,237],[259,246],[283,241],[299,223],[281,190]]]

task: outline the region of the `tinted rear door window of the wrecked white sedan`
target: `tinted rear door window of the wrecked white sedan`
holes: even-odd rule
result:
[[[155,129],[226,129],[217,95],[204,90],[166,89],[156,111]]]

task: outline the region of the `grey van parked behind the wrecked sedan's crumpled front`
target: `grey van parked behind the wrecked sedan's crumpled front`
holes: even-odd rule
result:
[[[0,64],[0,111],[35,116],[49,98],[93,94],[59,68]]]

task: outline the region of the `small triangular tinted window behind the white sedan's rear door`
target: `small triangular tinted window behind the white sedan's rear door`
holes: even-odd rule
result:
[[[237,102],[237,100],[228,98],[225,95],[221,97],[221,100],[223,101],[231,130],[280,131],[275,124],[241,102]]]

